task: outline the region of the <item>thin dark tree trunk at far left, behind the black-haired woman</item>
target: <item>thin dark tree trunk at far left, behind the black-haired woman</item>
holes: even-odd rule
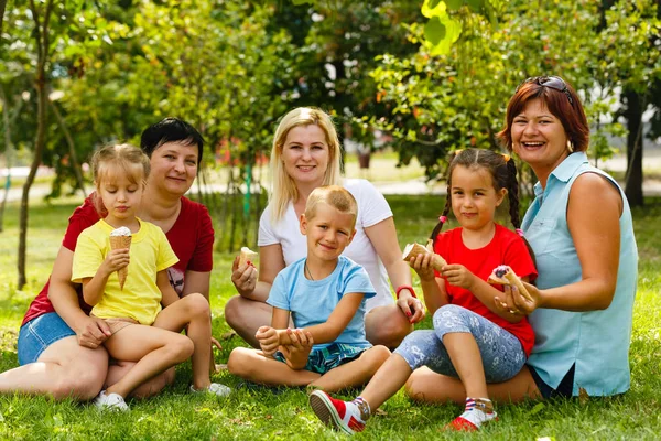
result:
[[[35,88],[36,88],[36,138],[34,141],[34,157],[32,159],[32,165],[30,165],[30,173],[23,185],[23,195],[21,197],[21,215],[19,220],[19,282],[18,289],[22,290],[28,282],[25,277],[25,248],[28,243],[28,206],[30,198],[30,187],[34,182],[36,170],[41,165],[42,155],[44,152],[44,146],[46,143],[46,123],[47,123],[47,77],[46,77],[46,63],[48,62],[48,21],[51,20],[51,12],[53,11],[53,1],[46,0],[44,7],[43,24],[40,23],[40,14],[34,4],[34,0],[30,1],[30,9],[32,11],[32,19],[34,20],[34,39],[37,47],[37,62],[36,62],[36,76],[35,76]]]

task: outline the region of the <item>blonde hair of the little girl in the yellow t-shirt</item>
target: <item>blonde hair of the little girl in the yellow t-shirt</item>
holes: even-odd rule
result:
[[[139,148],[131,144],[105,146],[91,157],[91,174],[97,190],[105,180],[116,179],[123,174],[129,182],[147,185],[150,172],[149,157]],[[101,197],[96,194],[94,205],[101,215],[107,214]]]

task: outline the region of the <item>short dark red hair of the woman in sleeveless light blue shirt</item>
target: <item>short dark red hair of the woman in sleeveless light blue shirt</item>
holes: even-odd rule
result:
[[[576,90],[565,82],[566,92],[561,92],[551,87],[540,85],[537,80],[523,83],[514,95],[511,97],[507,106],[507,116],[505,118],[505,128],[498,133],[498,139],[507,148],[512,151],[512,121],[523,111],[525,105],[533,99],[540,98],[544,106],[555,118],[562,122],[567,138],[574,146],[573,151],[586,151],[589,147],[589,127],[585,110]],[[572,97],[570,103],[568,96]]]

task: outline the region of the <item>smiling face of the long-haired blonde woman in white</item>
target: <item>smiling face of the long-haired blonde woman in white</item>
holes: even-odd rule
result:
[[[328,169],[330,150],[326,133],[315,125],[294,127],[282,146],[286,174],[297,185],[321,186]]]

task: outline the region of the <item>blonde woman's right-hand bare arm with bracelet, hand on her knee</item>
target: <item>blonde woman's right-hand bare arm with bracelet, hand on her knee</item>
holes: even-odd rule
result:
[[[395,288],[411,286],[411,270],[409,265],[402,260],[402,250],[399,246],[392,217],[365,228],[365,234],[377,250],[377,255],[381,258],[386,271],[388,271],[390,283]],[[400,291],[397,304],[404,314],[412,314],[409,319],[411,323],[418,323],[424,319],[422,304],[415,301],[408,289]]]

